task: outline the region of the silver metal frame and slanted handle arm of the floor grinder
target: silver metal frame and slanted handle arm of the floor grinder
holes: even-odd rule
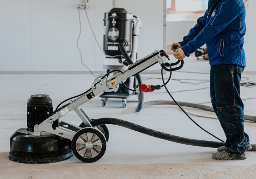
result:
[[[56,112],[54,115],[50,116],[39,125],[35,125],[34,136],[41,136],[44,135],[45,132],[50,132],[52,134],[72,140],[76,132],[82,129],[82,127],[61,121],[59,122],[59,127],[53,129],[53,121],[58,120],[68,112],[74,110],[86,125],[86,127],[93,127],[91,125],[92,120],[86,115],[80,106],[83,103],[86,103],[87,101],[96,97],[97,95],[100,95],[102,92],[117,91],[119,88],[119,83],[131,76],[135,76],[136,74],[144,71],[156,63],[159,63],[160,66],[163,66],[164,64],[164,60],[159,54],[158,50],[131,64],[128,69],[122,73],[117,74],[111,79],[107,79],[106,77],[101,79],[103,76],[97,77],[92,83],[92,89],[90,91],[82,96],[77,97],[75,100],[69,100],[70,102],[58,108],[58,112]],[[95,129],[97,128],[95,127]]]

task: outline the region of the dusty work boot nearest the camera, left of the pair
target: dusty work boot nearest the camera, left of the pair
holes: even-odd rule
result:
[[[235,152],[231,152],[228,149],[222,150],[220,152],[214,152],[212,158],[216,160],[244,160],[247,158],[246,153],[243,155],[237,155]]]

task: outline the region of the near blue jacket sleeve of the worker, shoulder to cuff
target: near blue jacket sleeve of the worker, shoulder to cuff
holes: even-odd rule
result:
[[[222,3],[220,10],[216,13],[212,22],[206,25],[197,35],[182,47],[186,56],[195,52],[198,48],[216,37],[240,14],[240,6],[233,0]]]

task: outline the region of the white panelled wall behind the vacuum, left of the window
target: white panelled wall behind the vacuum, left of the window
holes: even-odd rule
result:
[[[76,47],[79,33],[77,4],[82,0],[1,0],[0,72],[87,71]],[[89,0],[87,10],[97,40],[103,44],[104,13],[113,0]],[[163,0],[116,0],[140,17],[138,58],[163,49]],[[79,47],[92,71],[103,71],[105,57],[98,48],[84,10]],[[154,67],[153,67],[154,68]],[[151,68],[151,70],[153,69]],[[105,70],[104,70],[105,71]]]

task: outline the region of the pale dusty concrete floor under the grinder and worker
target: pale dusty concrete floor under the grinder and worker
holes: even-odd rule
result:
[[[177,101],[204,103],[211,105],[209,97],[209,62],[186,58],[180,72],[174,72],[172,78],[203,79],[205,83],[190,84],[172,80],[167,87]],[[157,65],[157,64],[156,64]],[[187,73],[199,72],[199,73]],[[242,74],[249,81],[256,81],[256,75]],[[142,74],[145,84],[161,84],[160,74]],[[165,74],[168,77],[168,74]],[[105,155],[95,163],[81,163],[75,156],[54,164],[19,164],[8,159],[9,137],[15,130],[26,127],[26,101],[30,95],[47,94],[53,105],[75,96],[90,88],[95,77],[90,74],[0,74],[0,179],[18,178],[246,178],[255,174],[256,153],[247,152],[247,159],[238,161],[218,161],[211,158],[216,151],[213,148],[181,145],[147,136],[119,126],[107,125],[110,139]],[[245,79],[245,78],[243,78]],[[248,81],[248,80],[247,80]],[[198,83],[202,81],[182,80]],[[197,91],[180,90],[199,89]],[[256,97],[256,88],[241,87],[243,99]],[[165,89],[147,93],[146,101],[171,100]],[[177,106],[151,106],[139,113],[135,112],[137,96],[127,100],[122,108],[121,100],[110,99],[105,107],[100,97],[82,105],[91,118],[115,117],[149,127],[154,130],[193,139],[217,141],[199,129]],[[245,114],[256,115],[256,99],[246,100]],[[195,115],[216,117],[213,112],[192,108],[185,111]],[[224,132],[218,120],[211,118],[192,118],[206,130],[225,140]],[[63,116],[63,121],[75,125],[81,123],[75,112]],[[256,124],[245,123],[245,131],[251,143],[256,144]],[[248,175],[248,172],[250,174]]]

